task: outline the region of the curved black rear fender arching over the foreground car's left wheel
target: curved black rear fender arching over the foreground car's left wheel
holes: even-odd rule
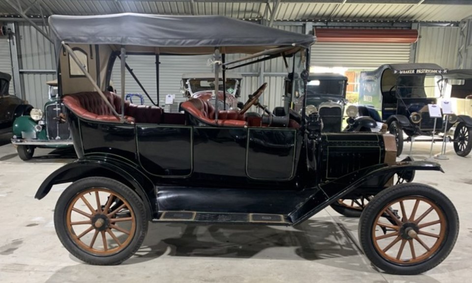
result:
[[[138,169],[117,159],[79,159],[68,163],[43,181],[34,196],[44,198],[55,184],[74,182],[88,177],[106,177],[122,182],[134,190],[145,203],[148,219],[157,211],[154,184]]]

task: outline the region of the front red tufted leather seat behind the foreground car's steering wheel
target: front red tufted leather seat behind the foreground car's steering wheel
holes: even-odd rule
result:
[[[219,110],[218,121],[215,120],[215,108],[207,101],[194,98],[181,104],[182,109],[208,125],[244,127],[246,126],[245,116],[239,115],[234,110]]]

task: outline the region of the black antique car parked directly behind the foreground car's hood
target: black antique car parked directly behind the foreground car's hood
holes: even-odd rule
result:
[[[306,96],[306,105],[317,108],[323,121],[324,132],[340,132],[346,119],[345,131],[376,131],[377,123],[369,116],[359,116],[355,105],[347,106],[348,77],[333,73],[312,73],[308,77],[306,95],[299,97],[295,111],[300,113]],[[346,107],[347,106],[347,107]],[[347,117],[345,117],[345,113]]]

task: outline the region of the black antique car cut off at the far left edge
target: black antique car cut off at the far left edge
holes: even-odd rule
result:
[[[11,76],[0,72],[0,132],[11,131],[13,121],[22,115],[29,115],[33,106],[20,98],[10,95]]]

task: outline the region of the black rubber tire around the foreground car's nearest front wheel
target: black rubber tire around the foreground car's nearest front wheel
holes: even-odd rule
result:
[[[384,210],[385,207],[392,204],[392,202],[395,202],[396,200],[401,200],[403,198],[413,198],[413,199],[422,198],[434,204],[436,208],[441,212],[441,215],[443,217],[442,219],[444,223],[444,228],[442,228],[441,226],[440,231],[443,230],[442,232],[440,232],[440,234],[442,233],[441,235],[442,239],[441,237],[438,237],[438,240],[435,243],[435,245],[431,247],[431,250],[432,250],[431,254],[426,255],[424,257],[422,257],[423,255],[420,255],[419,259],[415,259],[415,257],[412,257],[413,260],[417,260],[417,262],[413,262],[413,263],[408,263],[408,261],[400,260],[402,262],[400,264],[397,262],[393,262],[391,258],[387,258],[386,253],[384,253],[384,255],[381,255],[381,252],[375,248],[374,239],[373,239],[373,233],[375,233],[375,231],[373,231],[373,229],[376,229],[377,227],[376,219],[380,213],[385,211]],[[397,214],[398,211],[393,211],[393,212],[394,213],[391,215],[398,216]],[[408,213],[406,214],[408,215]],[[398,216],[397,220],[401,220],[404,223],[403,225],[409,225],[412,223],[411,217],[410,219],[403,219],[403,218],[400,218],[400,216]],[[386,220],[384,222],[388,223],[388,221]],[[399,231],[398,237],[400,237],[401,230],[391,230],[391,231]],[[403,231],[405,232],[405,230]],[[375,266],[379,267],[383,271],[390,274],[415,275],[415,274],[426,272],[434,268],[449,255],[452,248],[454,247],[458,233],[459,233],[459,217],[452,202],[439,190],[431,186],[427,186],[427,185],[423,185],[419,183],[403,183],[403,184],[394,185],[390,188],[383,190],[376,197],[374,197],[374,199],[372,199],[371,202],[369,202],[369,206],[367,206],[364,209],[359,220],[359,241],[362,246],[362,249],[364,250],[365,255],[370,259],[370,261]],[[414,233],[414,237],[419,238],[420,234],[421,232],[418,232],[417,234]],[[423,235],[424,233],[421,235],[421,237],[425,237]],[[406,236],[409,236],[409,235],[406,235]],[[402,234],[402,237],[403,237],[403,234]],[[405,238],[401,238],[402,243],[404,239]],[[410,240],[412,242],[415,242],[413,241],[414,238],[410,238]],[[405,241],[407,240],[405,239]],[[429,253],[429,251],[427,253]],[[399,258],[397,257],[396,259],[399,259]]]

